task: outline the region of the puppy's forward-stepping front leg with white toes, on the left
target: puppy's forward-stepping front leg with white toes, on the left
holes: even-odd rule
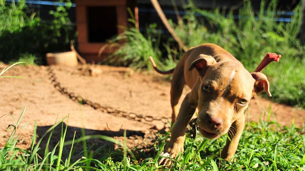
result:
[[[172,126],[172,136],[165,146],[164,151],[161,153],[161,156],[176,158],[177,154],[184,151],[184,140],[185,140],[185,131],[186,127],[191,120],[198,101],[194,100],[194,93],[188,93],[180,107],[180,111],[177,117],[176,122]],[[196,96],[196,95],[195,95]],[[168,158],[161,158],[159,165],[170,165],[171,160]]]

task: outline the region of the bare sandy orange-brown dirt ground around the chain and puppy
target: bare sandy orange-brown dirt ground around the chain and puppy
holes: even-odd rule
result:
[[[4,66],[0,64],[0,69]],[[102,74],[89,76],[84,70],[79,70],[79,67],[53,66],[58,81],[83,98],[144,116],[171,116],[170,82],[166,80],[166,76],[154,72],[130,72],[123,67],[96,67],[102,70]],[[79,138],[81,128],[85,128],[86,135],[102,134],[119,140],[122,140],[123,130],[127,130],[128,146],[138,148],[151,145],[155,135],[150,128],[155,125],[160,128],[163,125],[160,121],[138,122],[113,116],[72,101],[53,87],[46,66],[15,66],[5,75],[26,78],[0,79],[0,148],[9,136],[8,125],[16,123],[24,106],[26,112],[17,132],[20,132],[17,145],[21,148],[30,147],[35,121],[38,126],[37,135],[41,137],[56,122],[57,115],[57,121],[69,115],[68,140],[73,138],[74,131],[77,132],[76,138]],[[184,89],[180,102],[188,91],[189,88]],[[258,121],[269,105],[272,106],[279,124],[289,125],[295,117],[295,124],[303,125],[305,110],[277,104],[261,97],[251,100],[249,119]],[[60,129],[56,129],[53,137],[57,139],[53,145],[59,141],[59,136]],[[105,141],[93,140],[93,143],[102,145]]]

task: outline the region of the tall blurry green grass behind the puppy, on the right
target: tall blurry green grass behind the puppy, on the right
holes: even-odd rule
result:
[[[281,54],[279,63],[271,63],[263,73],[270,81],[274,101],[305,107],[305,46],[298,40],[301,23],[300,5],[294,9],[291,22],[276,21],[277,1],[269,5],[262,1],[260,11],[254,11],[250,1],[239,9],[239,20],[233,11],[227,15],[216,9],[201,10],[192,3],[186,8],[182,29],[172,23],[177,35],[189,47],[215,43],[232,53],[250,72],[253,72],[267,52]],[[202,14],[207,21],[195,17]],[[267,96],[265,96],[267,97]]]

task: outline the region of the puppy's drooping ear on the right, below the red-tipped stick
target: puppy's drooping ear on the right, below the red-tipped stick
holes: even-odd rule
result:
[[[271,93],[269,91],[269,81],[267,80],[266,75],[260,72],[254,72],[251,75],[255,79],[253,93],[258,94],[262,92],[265,86],[266,93],[269,97],[271,97]]]

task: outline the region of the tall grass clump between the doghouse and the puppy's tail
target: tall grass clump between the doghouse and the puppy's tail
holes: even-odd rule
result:
[[[128,10],[131,15],[131,19],[129,19],[131,25],[128,28],[123,28],[125,29],[123,33],[108,40],[110,45],[104,46],[99,52],[101,54],[105,48],[116,48],[105,59],[105,63],[113,66],[129,66],[136,70],[152,70],[152,65],[149,62],[149,57],[152,56],[158,67],[164,70],[174,68],[177,62],[175,59],[180,57],[180,51],[172,49],[168,41],[160,44],[161,34],[157,33],[156,24],[150,24],[144,33],[140,32],[135,27],[136,23],[131,10]],[[161,46],[164,47],[165,58],[162,58]]]

